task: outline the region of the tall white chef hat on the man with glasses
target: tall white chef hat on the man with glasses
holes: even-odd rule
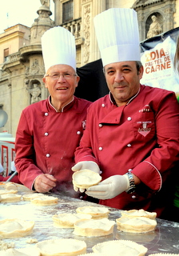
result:
[[[50,66],[66,64],[76,70],[74,35],[62,26],[55,26],[42,35],[42,55],[46,71]]]

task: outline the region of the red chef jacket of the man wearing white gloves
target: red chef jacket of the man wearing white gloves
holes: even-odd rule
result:
[[[101,204],[161,214],[171,191],[166,184],[179,159],[178,113],[173,92],[150,86],[141,86],[125,106],[117,107],[111,94],[93,102],[87,114],[86,131],[75,152],[76,162],[97,162],[103,179],[131,170],[141,180],[134,194],[123,192],[115,198],[100,200]]]

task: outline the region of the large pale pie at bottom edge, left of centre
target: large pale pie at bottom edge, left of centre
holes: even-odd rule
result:
[[[86,253],[86,242],[70,238],[44,240],[36,246],[42,256],[76,256]]]

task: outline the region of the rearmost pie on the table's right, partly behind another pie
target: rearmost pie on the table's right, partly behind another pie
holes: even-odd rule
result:
[[[157,213],[149,212],[143,209],[140,210],[121,210],[121,216],[125,217],[146,217],[155,219],[157,217]]]

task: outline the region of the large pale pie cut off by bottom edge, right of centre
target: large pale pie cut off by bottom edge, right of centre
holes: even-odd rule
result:
[[[110,256],[144,256],[147,252],[145,246],[137,244],[129,240],[113,240],[109,242],[101,242],[92,247],[93,252],[104,253]]]

